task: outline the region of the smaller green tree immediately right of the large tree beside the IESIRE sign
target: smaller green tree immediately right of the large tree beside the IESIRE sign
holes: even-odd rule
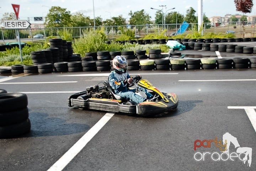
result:
[[[72,15],[71,17],[71,26],[72,27],[89,27],[90,18],[85,17],[82,13],[78,12],[75,13],[75,15]]]

